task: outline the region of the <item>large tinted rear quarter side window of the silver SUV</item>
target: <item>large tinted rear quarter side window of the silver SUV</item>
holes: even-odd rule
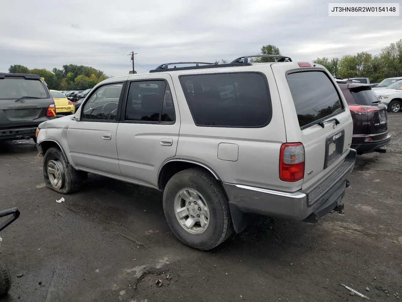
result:
[[[251,72],[180,77],[197,126],[263,127],[271,120],[271,99],[263,75]]]

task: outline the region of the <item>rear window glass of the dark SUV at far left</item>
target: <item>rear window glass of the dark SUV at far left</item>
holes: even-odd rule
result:
[[[0,79],[0,99],[18,99],[20,97],[35,97],[47,99],[47,89],[38,79],[4,78]]]

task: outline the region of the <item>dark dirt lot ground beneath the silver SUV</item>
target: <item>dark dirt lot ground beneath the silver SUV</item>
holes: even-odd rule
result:
[[[256,216],[209,252],[176,240],[160,192],[90,175],[56,203],[62,196],[45,187],[33,142],[0,143],[1,209],[21,211],[1,234],[13,282],[4,301],[364,300],[340,283],[373,301],[397,301],[402,113],[390,114],[389,128],[387,153],[358,157],[344,215],[316,224]]]

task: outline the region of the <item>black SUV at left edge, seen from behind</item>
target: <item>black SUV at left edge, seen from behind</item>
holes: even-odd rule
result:
[[[53,118],[54,101],[39,75],[0,73],[0,140],[35,141],[37,126]]]

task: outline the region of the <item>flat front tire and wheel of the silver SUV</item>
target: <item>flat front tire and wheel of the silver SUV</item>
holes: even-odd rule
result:
[[[75,170],[60,149],[51,147],[43,157],[43,176],[49,189],[70,194],[80,188],[84,172]]]

